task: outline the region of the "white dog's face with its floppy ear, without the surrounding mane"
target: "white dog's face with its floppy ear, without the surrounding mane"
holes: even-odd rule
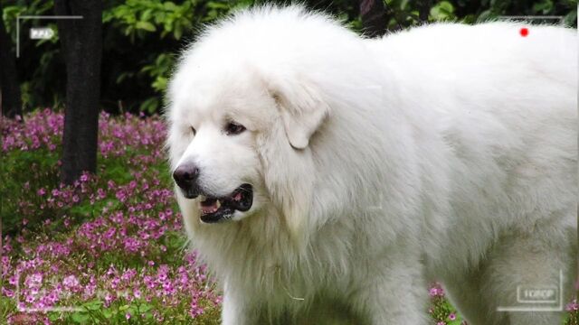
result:
[[[235,222],[275,210],[299,233],[315,178],[310,140],[327,105],[302,76],[199,60],[185,58],[169,91],[176,192],[182,209],[195,210],[185,218]]]

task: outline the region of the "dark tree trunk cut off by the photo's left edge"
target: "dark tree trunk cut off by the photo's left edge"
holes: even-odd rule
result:
[[[0,5],[2,14],[2,5]],[[0,107],[2,115],[10,118],[22,116],[20,83],[16,72],[16,60],[12,53],[12,42],[0,19]]]

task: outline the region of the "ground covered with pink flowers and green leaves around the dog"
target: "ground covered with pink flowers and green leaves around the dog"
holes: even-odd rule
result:
[[[219,324],[221,292],[186,249],[161,118],[101,114],[99,171],[72,186],[58,181],[62,113],[0,122],[0,322]],[[436,283],[424,294],[432,324],[464,323]]]

